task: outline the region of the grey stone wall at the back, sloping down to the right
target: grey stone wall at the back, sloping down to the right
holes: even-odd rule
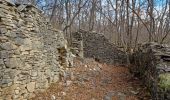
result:
[[[126,54],[102,34],[80,30],[72,33],[72,49],[75,55],[94,58],[98,62],[107,64],[124,64],[127,62]]]

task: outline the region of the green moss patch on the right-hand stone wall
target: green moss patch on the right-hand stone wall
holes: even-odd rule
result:
[[[166,90],[170,89],[170,73],[164,73],[159,75],[159,85]]]

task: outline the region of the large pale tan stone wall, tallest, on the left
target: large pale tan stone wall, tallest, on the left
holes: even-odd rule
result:
[[[41,10],[0,0],[0,100],[32,98],[71,66],[64,34]]]

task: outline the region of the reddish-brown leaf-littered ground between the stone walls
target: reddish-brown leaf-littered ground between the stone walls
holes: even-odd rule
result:
[[[75,60],[74,78],[52,84],[33,100],[149,100],[141,81],[126,66],[113,66],[93,59]]]

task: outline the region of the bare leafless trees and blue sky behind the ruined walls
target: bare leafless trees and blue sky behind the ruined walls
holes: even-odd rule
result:
[[[13,0],[40,8],[67,40],[78,30],[104,34],[126,51],[170,42],[170,0]],[[69,42],[71,44],[71,42]]]

